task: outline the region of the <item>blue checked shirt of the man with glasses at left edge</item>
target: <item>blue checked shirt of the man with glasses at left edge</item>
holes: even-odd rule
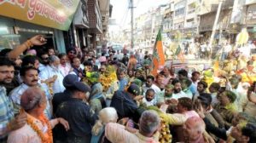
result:
[[[13,104],[6,95],[6,89],[0,86],[0,140],[7,137],[7,125],[14,117]]]

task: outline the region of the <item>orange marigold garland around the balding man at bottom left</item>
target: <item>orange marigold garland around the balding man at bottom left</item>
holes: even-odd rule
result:
[[[44,135],[41,129],[38,129],[38,126],[34,123],[33,117],[27,116],[26,123],[38,134],[38,136],[42,140],[42,143],[53,143],[51,126],[49,124],[48,119],[44,116],[44,114],[38,117],[38,119],[39,121],[41,121],[42,124],[47,125],[47,128],[48,128],[47,135]]]

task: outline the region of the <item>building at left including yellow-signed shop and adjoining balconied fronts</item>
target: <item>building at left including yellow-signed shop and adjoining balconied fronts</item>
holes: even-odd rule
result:
[[[13,49],[38,34],[47,38],[44,46],[59,53],[74,47],[95,48],[108,31],[110,7],[109,0],[5,1],[0,3],[0,50]]]

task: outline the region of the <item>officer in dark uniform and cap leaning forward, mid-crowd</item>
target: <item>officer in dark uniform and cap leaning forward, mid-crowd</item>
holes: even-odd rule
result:
[[[139,94],[140,89],[134,83],[131,83],[127,91],[118,90],[113,94],[110,106],[113,106],[116,109],[119,119],[130,117],[136,123],[138,122],[141,112],[137,106],[136,100],[141,100],[143,98],[143,96],[140,96]]]

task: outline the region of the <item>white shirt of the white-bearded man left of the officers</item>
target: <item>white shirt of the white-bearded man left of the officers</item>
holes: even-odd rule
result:
[[[65,87],[63,86],[63,78],[64,76],[61,74],[61,71],[59,69],[56,69],[52,66],[46,66],[44,71],[39,73],[39,77],[41,77],[42,80],[49,79],[50,77],[57,76],[57,79],[55,80],[55,83],[53,84],[53,92],[61,93],[65,90]]]

